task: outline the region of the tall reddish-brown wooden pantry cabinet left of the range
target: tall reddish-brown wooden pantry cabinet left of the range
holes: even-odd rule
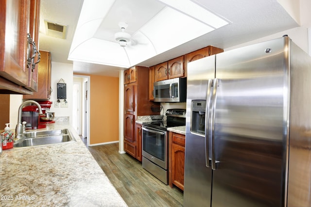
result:
[[[141,161],[138,116],[155,114],[149,101],[149,68],[135,66],[124,71],[124,151]]]

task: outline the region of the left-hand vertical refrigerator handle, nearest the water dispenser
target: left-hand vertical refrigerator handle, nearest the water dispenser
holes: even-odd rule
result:
[[[212,87],[212,79],[208,80],[207,83],[207,96],[206,96],[206,108],[205,108],[205,165],[210,167],[209,164],[209,146],[208,146],[208,131],[209,131],[209,109],[210,109],[210,100],[211,100],[211,87]]]

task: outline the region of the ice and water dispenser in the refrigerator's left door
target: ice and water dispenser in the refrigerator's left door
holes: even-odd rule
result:
[[[205,135],[206,100],[192,100],[191,132]]]

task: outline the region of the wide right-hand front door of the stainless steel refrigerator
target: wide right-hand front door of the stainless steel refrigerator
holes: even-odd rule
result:
[[[286,46],[281,38],[216,56],[211,207],[284,206]]]

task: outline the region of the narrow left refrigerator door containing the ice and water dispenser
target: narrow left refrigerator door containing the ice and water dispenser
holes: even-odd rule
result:
[[[212,170],[207,167],[205,128],[206,107],[209,106],[207,88],[215,78],[215,55],[189,63],[187,70],[184,206],[210,206]]]

